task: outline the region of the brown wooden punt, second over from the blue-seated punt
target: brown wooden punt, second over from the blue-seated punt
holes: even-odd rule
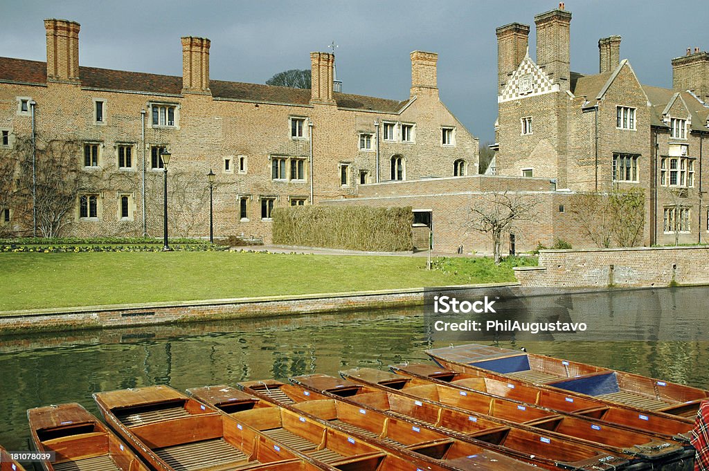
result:
[[[451,385],[431,384],[427,380],[406,378],[388,371],[373,368],[355,368],[341,371],[342,378],[362,382],[369,387],[384,388],[430,401],[443,407],[460,409],[466,414],[476,414],[498,421],[500,425],[532,427],[550,436],[579,441],[597,446],[618,455],[628,454],[646,460],[655,467],[674,469],[678,460],[693,457],[693,448],[687,450],[676,441],[665,441],[655,436],[601,424],[588,417],[559,414],[518,401],[487,395],[476,390],[460,390]],[[686,453],[685,453],[686,452]]]

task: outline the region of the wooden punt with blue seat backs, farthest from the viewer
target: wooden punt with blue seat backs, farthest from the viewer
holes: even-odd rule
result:
[[[576,361],[468,344],[427,350],[443,368],[492,371],[557,390],[674,416],[693,417],[709,391]]]

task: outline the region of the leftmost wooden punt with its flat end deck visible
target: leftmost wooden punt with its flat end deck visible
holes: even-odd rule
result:
[[[27,411],[35,450],[54,452],[46,471],[149,471],[128,446],[80,404]]]

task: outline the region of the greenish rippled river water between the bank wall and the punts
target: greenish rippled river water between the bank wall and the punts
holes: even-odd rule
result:
[[[709,288],[564,299],[590,326],[618,332],[618,340],[527,336],[486,343],[709,388]],[[0,445],[28,448],[30,407],[80,402],[98,414],[94,392],[336,375],[356,366],[427,361],[424,349],[450,343],[432,336],[423,307],[0,337]]]

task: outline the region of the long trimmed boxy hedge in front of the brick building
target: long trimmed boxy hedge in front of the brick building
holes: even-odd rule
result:
[[[413,249],[413,212],[369,206],[293,206],[273,211],[274,244],[366,251]]]

